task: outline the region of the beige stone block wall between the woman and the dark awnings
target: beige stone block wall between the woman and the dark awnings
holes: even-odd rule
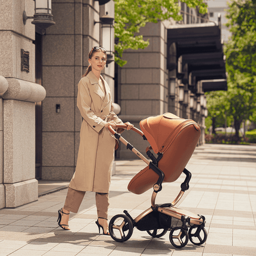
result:
[[[166,28],[161,22],[149,23],[141,28],[140,33],[145,40],[149,39],[149,46],[138,51],[124,52],[123,58],[127,60],[127,64],[120,68],[118,85],[120,117],[138,128],[141,118],[166,113],[168,104]],[[148,142],[134,132],[125,132],[123,136],[145,155]],[[117,152],[117,157],[136,158],[123,145]]]

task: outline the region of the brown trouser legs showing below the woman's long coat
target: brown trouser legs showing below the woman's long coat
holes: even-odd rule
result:
[[[63,208],[67,211],[71,211],[72,213],[77,213],[84,196],[85,191],[76,191],[68,188],[67,197],[65,199]],[[95,199],[98,218],[108,218],[108,207],[110,205],[108,193],[96,192]]]

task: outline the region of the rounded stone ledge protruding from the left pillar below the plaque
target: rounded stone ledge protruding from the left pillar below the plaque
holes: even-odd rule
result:
[[[18,101],[39,102],[46,96],[46,90],[37,83],[7,78],[8,89],[2,95],[3,99],[16,99]]]

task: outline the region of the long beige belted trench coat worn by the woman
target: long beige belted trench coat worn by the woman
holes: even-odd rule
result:
[[[104,125],[110,120],[123,122],[113,112],[110,88],[102,76],[101,79],[105,98],[92,71],[78,84],[77,107],[83,122],[76,171],[69,185],[77,191],[108,193],[110,189],[115,138]]]

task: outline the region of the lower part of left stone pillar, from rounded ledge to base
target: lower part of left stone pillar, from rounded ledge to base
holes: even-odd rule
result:
[[[4,101],[5,207],[13,208],[38,199],[35,179],[35,102],[45,98],[36,84],[7,78]]]

